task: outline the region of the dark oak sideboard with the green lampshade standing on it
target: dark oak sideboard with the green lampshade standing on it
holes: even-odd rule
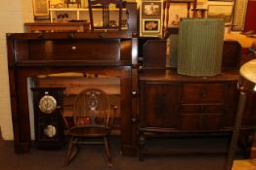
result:
[[[147,138],[152,134],[231,133],[235,123],[240,45],[235,41],[224,42],[221,74],[189,77],[177,74],[176,68],[166,67],[164,52],[150,51],[151,46],[155,49],[164,48],[165,44],[161,40],[156,41],[159,42],[149,40],[145,44],[143,67],[139,71],[138,139],[141,160],[145,154],[152,153],[150,148],[148,152],[145,150]],[[156,53],[158,60],[155,62],[153,58]],[[256,122],[251,99],[246,103],[239,136],[239,143],[247,156]]]

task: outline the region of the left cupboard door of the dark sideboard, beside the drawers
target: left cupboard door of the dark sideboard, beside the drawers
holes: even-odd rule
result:
[[[180,92],[179,84],[141,83],[141,127],[176,128]]]

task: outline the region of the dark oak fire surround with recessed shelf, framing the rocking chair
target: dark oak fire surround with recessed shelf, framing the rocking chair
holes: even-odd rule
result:
[[[123,154],[136,152],[132,100],[136,39],[127,32],[17,33],[7,35],[12,119],[16,153],[31,148],[27,78],[77,72],[120,79],[120,143]]]

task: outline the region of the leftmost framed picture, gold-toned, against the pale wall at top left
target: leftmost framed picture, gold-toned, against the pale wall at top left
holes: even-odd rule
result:
[[[49,16],[48,0],[33,0],[34,17]]]

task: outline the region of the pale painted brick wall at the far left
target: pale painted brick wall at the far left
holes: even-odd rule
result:
[[[32,21],[32,0],[1,0],[0,6],[0,128],[5,140],[12,140],[6,33],[23,31],[23,22]]]

